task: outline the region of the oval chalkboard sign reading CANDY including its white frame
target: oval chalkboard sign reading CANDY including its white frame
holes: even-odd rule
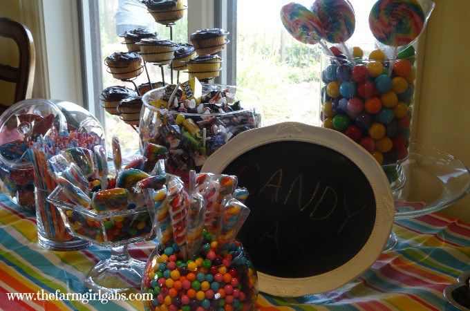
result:
[[[246,131],[202,171],[236,175],[250,191],[237,238],[268,294],[339,288],[373,265],[391,232],[393,196],[382,168],[330,129],[285,122]]]

